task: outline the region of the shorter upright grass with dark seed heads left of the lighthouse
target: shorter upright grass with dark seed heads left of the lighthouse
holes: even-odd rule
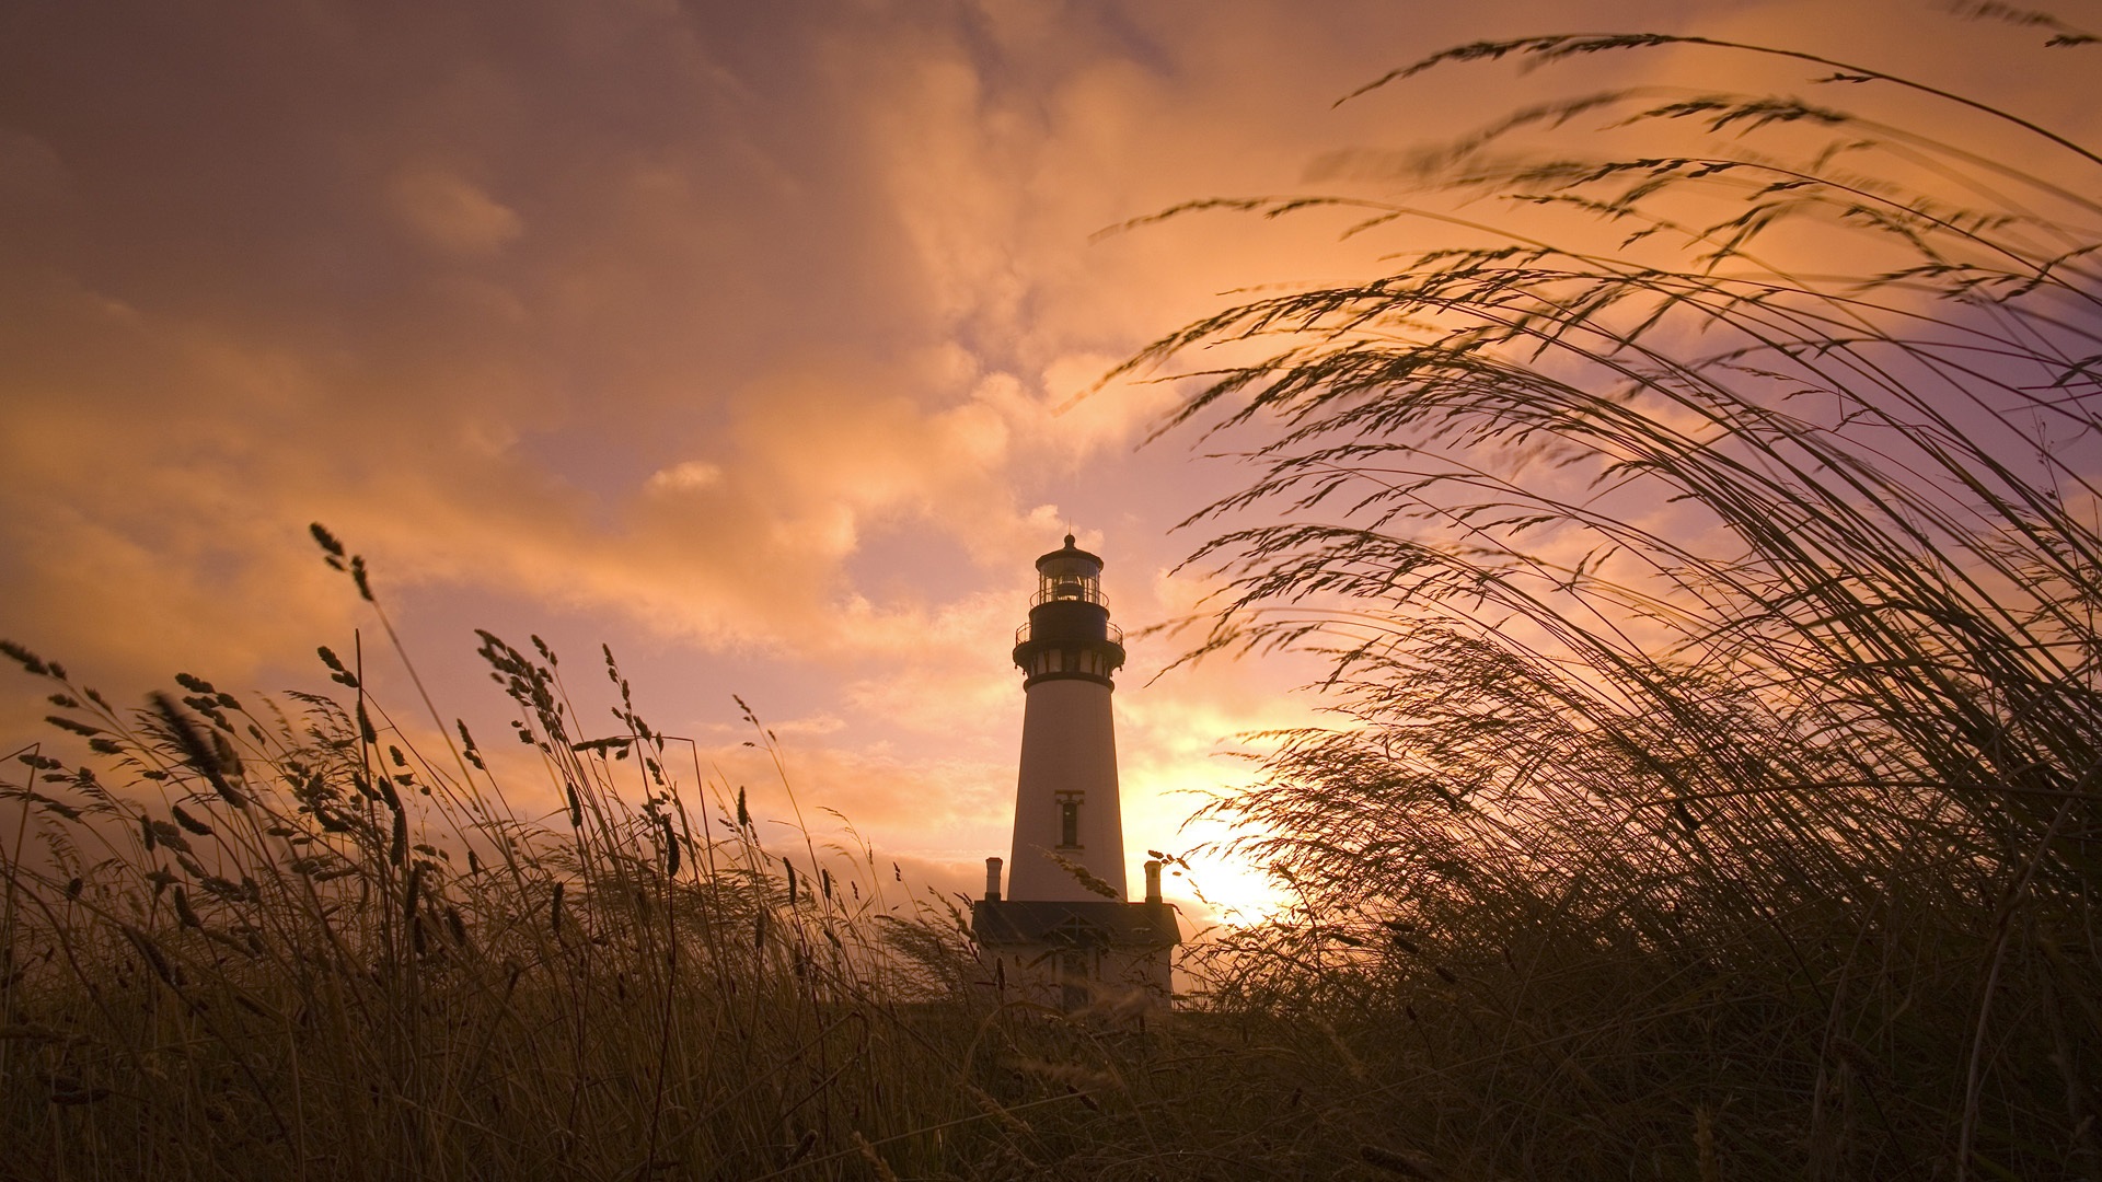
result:
[[[1246,1136],[1175,1102],[1215,1037],[1026,1005],[866,845],[763,843],[612,652],[572,698],[481,635],[538,784],[357,650],[290,711],[193,675],[126,711],[4,652],[63,736],[0,791],[0,1176],[1146,1176]]]

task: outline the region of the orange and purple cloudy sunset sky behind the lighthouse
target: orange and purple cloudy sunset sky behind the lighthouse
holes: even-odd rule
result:
[[[1909,2],[0,6],[0,635],[120,702],[320,688],[315,646],[362,635],[401,694],[324,522],[448,717],[502,734],[477,627],[544,637],[586,698],[607,644],[706,778],[786,816],[738,694],[807,816],[969,888],[1007,848],[1032,559],[1072,530],[1127,633],[1179,618],[1211,583],[1175,526],[1242,475],[1146,442],[1186,385],[1099,379],[1371,257],[1320,219],[1104,231],[1375,191],[1333,164],[1738,69],[1469,65],[1335,105],[1545,32],[1787,42],[2096,130],[2079,63],[2005,65],[2035,32]],[[1246,776],[1236,734],[1318,717],[1305,663],[1179,652],[1135,637],[1116,694],[1133,856],[1217,837],[1179,822]],[[38,736],[34,690],[0,686],[0,745]]]

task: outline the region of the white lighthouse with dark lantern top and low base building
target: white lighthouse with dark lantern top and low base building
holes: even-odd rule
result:
[[[1125,900],[1125,816],[1116,784],[1114,675],[1125,635],[1101,595],[1101,557],[1066,545],[1036,559],[1036,595],[1015,631],[1022,671],[1022,763],[1015,835],[1005,862],[986,858],[971,928],[992,982],[1064,1010],[1099,995],[1169,993],[1181,942],[1146,862],[1143,902]]]

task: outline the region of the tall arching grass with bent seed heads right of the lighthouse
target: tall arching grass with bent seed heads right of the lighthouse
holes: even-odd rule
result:
[[[1413,158],[1413,206],[1198,202],[1459,242],[1133,362],[1225,358],[1175,425],[1253,467],[1192,519],[1196,656],[1333,660],[1337,724],[1213,806],[1295,898],[1217,1005],[1333,1022],[1362,1119],[1465,1169],[2098,1178],[2102,160],[1701,38],[1375,86],[1658,46],[1936,135],[1619,90]]]

